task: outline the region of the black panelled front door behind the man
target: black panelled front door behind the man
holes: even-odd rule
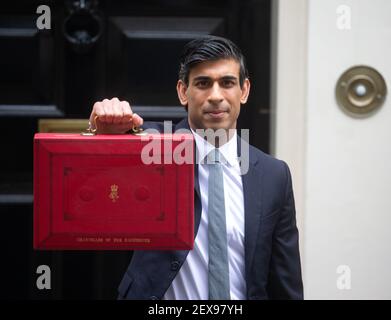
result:
[[[86,119],[95,101],[128,100],[146,120],[186,116],[175,85],[189,40],[230,38],[247,58],[252,82],[240,128],[269,149],[270,0],[40,1],[0,6],[0,214],[3,298],[115,299],[131,252],[32,249],[32,141],[44,118]],[[48,23],[48,21],[44,21]],[[5,248],[5,250],[4,250]],[[39,290],[37,268],[51,268]]]

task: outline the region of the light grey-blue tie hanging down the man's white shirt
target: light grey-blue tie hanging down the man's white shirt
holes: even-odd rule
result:
[[[229,300],[223,168],[218,149],[208,154],[209,299]]]

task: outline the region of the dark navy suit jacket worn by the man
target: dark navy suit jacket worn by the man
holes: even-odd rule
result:
[[[162,123],[144,127],[163,131]],[[187,119],[173,131],[187,128]],[[245,143],[238,138],[240,144]],[[194,172],[194,234],[201,218],[198,166]],[[242,176],[245,211],[247,299],[302,299],[303,284],[292,180],[285,162],[249,146]],[[119,285],[119,299],[161,299],[184,263],[187,250],[135,251]]]

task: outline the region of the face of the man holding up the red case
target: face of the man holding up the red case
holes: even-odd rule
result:
[[[189,85],[178,81],[183,106],[188,106],[192,129],[235,129],[241,104],[246,103],[250,82],[239,83],[240,65],[234,59],[205,61],[194,66]]]

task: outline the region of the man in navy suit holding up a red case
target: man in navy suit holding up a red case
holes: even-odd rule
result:
[[[188,117],[174,131],[191,129],[199,160],[214,159],[195,166],[194,249],[134,252],[120,299],[303,298],[289,169],[252,146],[248,172],[242,175],[238,164],[245,142],[235,129],[249,92],[244,58],[231,41],[207,36],[185,46],[177,93]],[[91,122],[96,116],[98,133],[143,125],[117,98],[96,102]],[[159,123],[145,127],[163,130]],[[199,129],[222,129],[227,141],[210,144]]]

